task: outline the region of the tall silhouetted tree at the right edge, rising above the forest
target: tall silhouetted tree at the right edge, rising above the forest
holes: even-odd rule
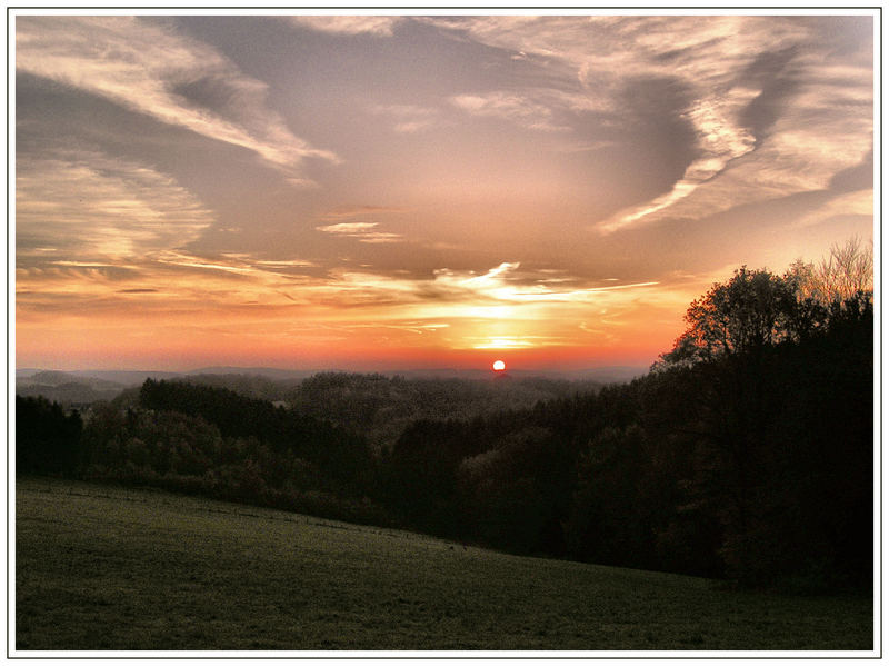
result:
[[[689,329],[656,366],[693,377],[686,399],[696,407],[679,425],[693,444],[688,494],[705,520],[721,525],[729,573],[750,583],[803,569],[848,577],[869,551],[858,520],[869,516],[868,491],[841,479],[870,485],[872,296],[825,304],[800,289],[801,274],[736,271],[692,302]],[[839,421],[841,431],[825,420],[828,395],[846,405],[835,418],[853,416]],[[817,498],[839,488],[830,509]],[[846,524],[831,523],[839,515]],[[856,553],[846,563],[837,534]]]

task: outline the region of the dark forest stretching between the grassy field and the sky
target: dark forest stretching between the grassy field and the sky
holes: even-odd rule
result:
[[[17,471],[745,586],[869,589],[873,292],[861,257],[847,246],[782,275],[739,268],[627,384],[498,394],[326,374],[272,401],[149,379],[89,415],[17,396]]]

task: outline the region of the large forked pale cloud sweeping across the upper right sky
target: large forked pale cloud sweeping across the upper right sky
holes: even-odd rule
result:
[[[503,49],[513,58],[538,58],[550,73],[560,67],[565,74],[573,73],[577,82],[573,90],[562,80],[558,91],[455,97],[455,103],[469,112],[509,118],[535,129],[551,127],[552,118],[563,111],[592,111],[617,125],[640,112],[658,120],[672,115],[691,126],[696,157],[685,173],[653,199],[600,221],[603,232],[820,189],[870,149],[872,56],[865,52],[851,63],[847,59],[842,66],[825,64],[837,46],[818,18],[424,20]],[[688,99],[670,108],[669,100],[657,97],[628,98],[637,82],[658,80],[682,88]],[[759,108],[769,109],[763,118],[773,118],[755,120]]]

